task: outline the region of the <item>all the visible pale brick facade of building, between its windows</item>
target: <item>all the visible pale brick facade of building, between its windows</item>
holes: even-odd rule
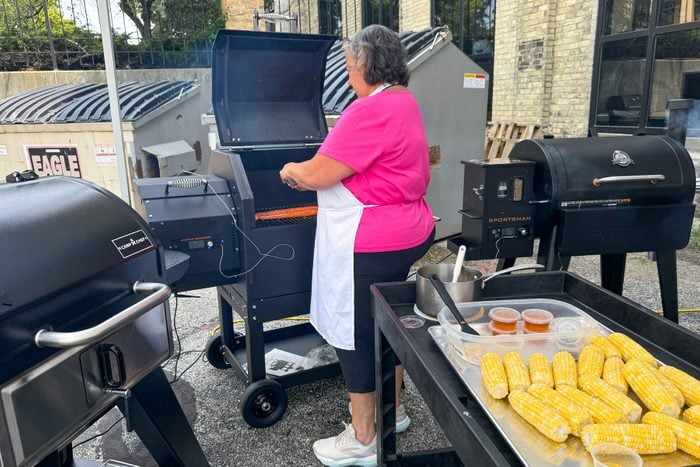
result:
[[[252,12],[262,11],[263,1],[223,0],[227,26],[252,29]],[[362,28],[362,0],[340,3],[348,37]],[[300,32],[319,32],[318,0],[287,5],[299,15]],[[492,121],[537,123],[557,137],[587,134],[597,9],[595,0],[497,1]],[[399,32],[431,21],[431,0],[399,0]]]

